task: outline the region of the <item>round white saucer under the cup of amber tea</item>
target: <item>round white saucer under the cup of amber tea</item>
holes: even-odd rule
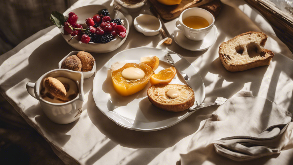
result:
[[[202,41],[191,41],[187,39],[181,30],[174,31],[175,42],[184,49],[191,51],[202,51],[211,47],[217,40],[218,30],[214,25],[211,31]]]

